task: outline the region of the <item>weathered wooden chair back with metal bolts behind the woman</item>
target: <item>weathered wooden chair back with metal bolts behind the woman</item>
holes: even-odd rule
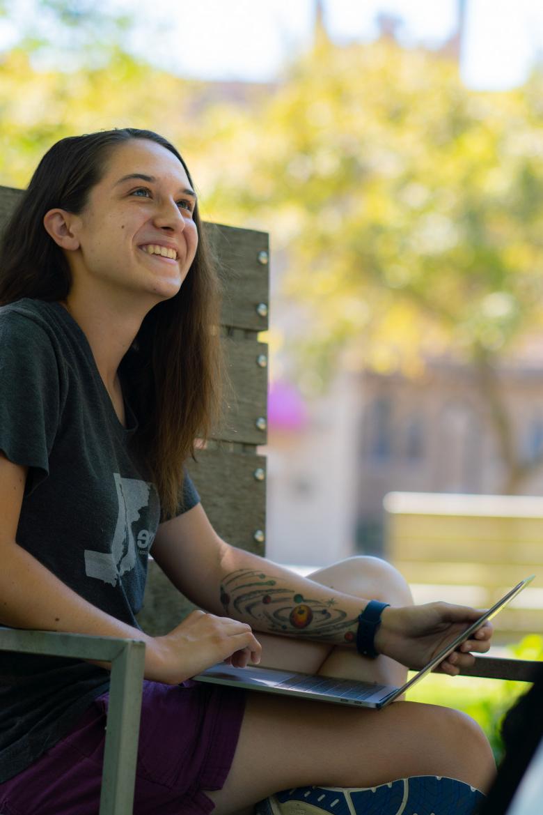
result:
[[[230,544],[265,553],[269,239],[264,232],[205,224],[223,286],[222,331],[230,404],[196,462],[188,462],[212,526]],[[155,562],[138,622],[150,634],[170,631],[194,606]]]

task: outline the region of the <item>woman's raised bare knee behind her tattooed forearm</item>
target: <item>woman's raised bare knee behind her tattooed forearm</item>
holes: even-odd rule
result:
[[[348,557],[335,568],[338,580],[334,588],[339,591],[368,600],[380,600],[392,606],[413,605],[413,597],[405,578],[381,557]]]

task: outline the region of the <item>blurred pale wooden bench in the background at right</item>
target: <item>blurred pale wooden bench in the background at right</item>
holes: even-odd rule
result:
[[[495,639],[543,631],[543,602],[536,602],[543,594],[541,498],[392,492],[383,507],[387,557],[419,597],[487,607],[536,575],[496,618]]]

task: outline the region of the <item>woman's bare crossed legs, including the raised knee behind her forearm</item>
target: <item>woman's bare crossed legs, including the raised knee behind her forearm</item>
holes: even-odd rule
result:
[[[406,606],[409,587],[386,562],[353,557],[310,579],[355,597]],[[364,659],[353,649],[258,635],[263,664],[401,685],[405,667]],[[291,786],[376,786],[409,775],[458,778],[485,790],[494,772],[484,734],[469,717],[433,705],[397,702],[382,711],[248,694],[226,784],[208,792],[215,815],[249,807]]]

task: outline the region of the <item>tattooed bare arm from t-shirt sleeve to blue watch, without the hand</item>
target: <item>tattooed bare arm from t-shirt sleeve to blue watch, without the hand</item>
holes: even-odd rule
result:
[[[151,555],[190,600],[256,631],[349,644],[367,603],[226,544],[200,504],[160,526]]]

